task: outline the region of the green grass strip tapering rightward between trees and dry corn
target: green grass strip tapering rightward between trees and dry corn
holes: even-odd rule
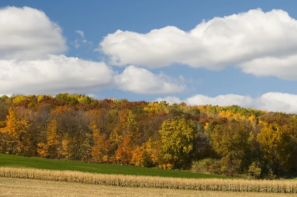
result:
[[[36,157],[15,156],[8,154],[0,154],[0,166],[25,167],[48,170],[75,170],[101,174],[144,175],[180,178],[231,178],[209,174],[198,174],[180,170],[163,170],[155,168],[143,168],[137,166],[60,161]]]

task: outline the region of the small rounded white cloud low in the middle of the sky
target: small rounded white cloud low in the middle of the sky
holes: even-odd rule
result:
[[[179,85],[163,73],[155,75],[147,69],[135,66],[128,66],[115,79],[121,90],[142,94],[171,94],[183,92],[186,89],[185,85]]]

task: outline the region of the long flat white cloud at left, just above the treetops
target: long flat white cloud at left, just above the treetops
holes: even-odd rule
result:
[[[0,93],[55,94],[100,90],[113,83],[114,72],[103,62],[65,55],[42,60],[0,60]]]

